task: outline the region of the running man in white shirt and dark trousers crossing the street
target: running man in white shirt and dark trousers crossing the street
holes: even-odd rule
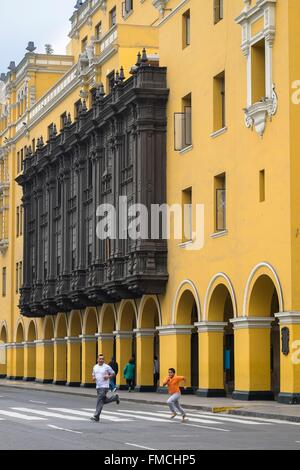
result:
[[[109,379],[114,377],[115,373],[112,368],[105,364],[103,354],[98,356],[98,364],[93,368],[93,380],[96,381],[97,389],[97,406],[94,416],[91,417],[92,421],[99,421],[100,414],[104,405],[108,403],[116,402],[117,405],[120,403],[119,395],[113,395],[111,398],[107,398],[107,392],[109,391]]]

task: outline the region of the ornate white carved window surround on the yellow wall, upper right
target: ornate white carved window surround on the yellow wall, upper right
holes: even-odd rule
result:
[[[245,124],[248,128],[255,128],[262,137],[267,123],[277,112],[278,98],[273,83],[273,44],[276,33],[276,3],[277,0],[244,0],[245,8],[235,19],[242,27],[241,49],[247,59],[247,106],[244,108]],[[253,25],[263,20],[263,27],[259,32],[253,31]],[[251,47],[264,39],[266,54],[266,90],[265,97],[256,103],[252,102],[252,61]]]

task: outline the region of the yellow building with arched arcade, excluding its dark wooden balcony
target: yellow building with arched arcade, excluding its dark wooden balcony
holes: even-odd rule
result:
[[[65,56],[29,50],[4,78],[0,119],[0,375],[91,386],[97,352],[137,390],[169,367],[188,392],[300,402],[297,0],[92,0]],[[189,204],[168,240],[163,295],[28,319],[22,284],[26,147],[76,118],[80,98],[138,52],[167,68],[167,203]],[[29,45],[29,49],[32,47]],[[200,222],[199,222],[200,221]],[[122,374],[117,378],[122,388]]]

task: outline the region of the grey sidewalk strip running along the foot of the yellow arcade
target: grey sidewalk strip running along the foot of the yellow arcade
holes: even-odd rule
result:
[[[82,397],[95,397],[95,389],[80,387],[65,387],[59,385],[43,385],[35,382],[22,382],[0,379],[1,387],[10,387],[38,392],[62,393]],[[138,393],[119,391],[122,401],[132,403],[148,403],[149,405],[165,405],[167,395],[160,393]],[[252,401],[244,402],[231,398],[200,398],[195,395],[183,395],[181,404],[187,409],[209,411],[213,413],[228,413],[234,415],[253,416],[268,419],[279,419],[300,423],[300,405],[282,405],[277,402]]]

